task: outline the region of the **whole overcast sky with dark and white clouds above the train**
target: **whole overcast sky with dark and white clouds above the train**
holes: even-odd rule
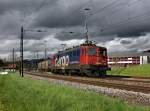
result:
[[[150,0],[0,0],[0,56],[19,51],[21,25],[47,31],[25,32],[26,57],[35,50],[42,55],[44,43],[49,54],[61,44],[79,45],[86,15],[90,40],[110,53],[150,49]]]

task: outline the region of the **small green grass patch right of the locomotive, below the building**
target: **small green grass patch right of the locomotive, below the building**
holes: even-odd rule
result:
[[[115,67],[111,71],[108,71],[108,74],[150,77],[150,65],[130,66],[126,68]]]

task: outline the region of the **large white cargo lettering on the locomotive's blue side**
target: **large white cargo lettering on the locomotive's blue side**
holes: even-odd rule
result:
[[[69,56],[62,56],[55,59],[55,66],[57,67],[65,67],[69,65]]]

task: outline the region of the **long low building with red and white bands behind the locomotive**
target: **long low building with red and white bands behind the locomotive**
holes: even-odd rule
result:
[[[120,52],[108,54],[110,66],[129,66],[150,63],[150,52]]]

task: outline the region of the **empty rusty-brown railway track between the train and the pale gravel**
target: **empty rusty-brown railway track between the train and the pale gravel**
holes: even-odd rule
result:
[[[52,75],[46,73],[33,73],[25,72],[26,74],[46,77],[50,79],[64,80],[69,82],[77,82],[82,84],[102,86],[108,88],[122,89],[127,91],[142,92],[150,94],[150,82],[149,81],[136,81],[136,80],[126,80],[126,79],[113,79],[113,78],[87,78],[87,77],[74,77],[74,76],[63,76],[63,75]]]

